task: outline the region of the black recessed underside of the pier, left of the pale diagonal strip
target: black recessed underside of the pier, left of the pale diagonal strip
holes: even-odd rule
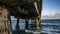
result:
[[[15,18],[19,17],[21,19],[25,19],[33,17],[35,18],[38,16],[38,13],[33,3],[13,7],[12,9],[10,9],[10,11],[11,15],[15,16]]]

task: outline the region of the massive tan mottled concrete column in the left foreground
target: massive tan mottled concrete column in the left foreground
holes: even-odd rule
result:
[[[0,6],[0,31],[0,34],[12,34],[10,13],[4,5]]]

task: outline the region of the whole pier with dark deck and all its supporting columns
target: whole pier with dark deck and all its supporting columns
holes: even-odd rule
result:
[[[16,30],[19,29],[19,19],[25,19],[25,29],[28,30],[28,20],[35,19],[36,30],[40,29],[42,0],[0,0],[0,34],[12,34],[11,17],[17,19]]]

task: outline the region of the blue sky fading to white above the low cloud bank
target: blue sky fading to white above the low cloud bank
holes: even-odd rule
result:
[[[43,15],[54,15],[60,13],[60,0],[43,0]]]

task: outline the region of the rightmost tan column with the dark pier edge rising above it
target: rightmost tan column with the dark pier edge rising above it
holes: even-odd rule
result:
[[[39,15],[38,17],[36,17],[36,29],[40,29],[39,22],[41,21],[42,3],[43,3],[43,0],[40,0],[39,2],[37,2],[37,8],[39,11]]]

